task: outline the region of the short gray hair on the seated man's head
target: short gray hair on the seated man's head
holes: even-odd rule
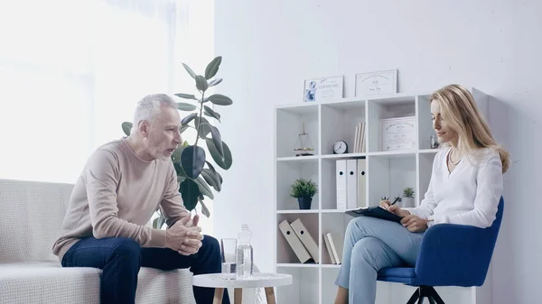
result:
[[[131,133],[137,130],[137,124],[140,121],[146,120],[153,123],[156,117],[160,114],[160,106],[170,106],[177,109],[177,103],[172,97],[166,94],[152,94],[143,97],[135,106],[134,121]]]

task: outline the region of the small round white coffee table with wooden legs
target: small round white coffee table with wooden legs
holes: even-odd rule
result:
[[[254,273],[252,279],[247,280],[224,280],[221,273],[210,273],[194,275],[192,278],[194,286],[208,287],[215,289],[213,304],[222,304],[222,296],[225,288],[233,288],[235,292],[235,303],[241,304],[243,299],[243,288],[265,288],[268,304],[276,304],[276,286],[292,284],[292,276],[283,273]]]

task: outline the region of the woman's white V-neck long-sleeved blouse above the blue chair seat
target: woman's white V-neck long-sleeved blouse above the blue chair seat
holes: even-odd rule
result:
[[[503,189],[499,152],[485,148],[476,159],[463,157],[450,173],[446,165],[450,149],[436,153],[429,187],[420,206],[405,209],[415,216],[433,219],[428,226],[491,226]]]

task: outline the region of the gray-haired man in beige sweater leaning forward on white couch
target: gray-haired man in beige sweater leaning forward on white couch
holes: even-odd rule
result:
[[[130,136],[100,146],[77,180],[53,244],[63,267],[102,269],[100,302],[134,303],[140,267],[194,274],[220,272],[220,246],[201,235],[198,216],[182,204],[171,156],[182,143],[173,98],[144,97],[135,108]],[[167,230],[145,226],[157,207]],[[214,289],[194,287],[194,298],[211,303]],[[227,292],[223,303],[229,303]]]

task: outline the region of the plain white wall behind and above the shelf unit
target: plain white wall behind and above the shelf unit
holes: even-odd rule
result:
[[[215,9],[220,93],[234,100],[218,109],[234,162],[215,199],[217,236],[247,222],[256,262],[271,271],[273,106],[302,102],[305,78],[343,74],[345,97],[353,97],[355,73],[397,68],[400,92],[455,82],[500,100],[492,127],[508,130],[498,140],[516,162],[505,176],[493,302],[542,298],[542,1],[238,0]]]

